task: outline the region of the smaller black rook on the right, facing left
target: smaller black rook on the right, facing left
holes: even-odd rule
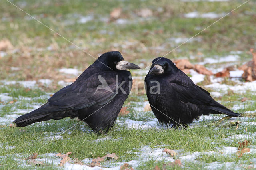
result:
[[[187,127],[200,115],[227,114],[238,117],[216,102],[208,91],[193,81],[167,58],[156,58],[145,77],[145,88],[152,111],[159,123]]]

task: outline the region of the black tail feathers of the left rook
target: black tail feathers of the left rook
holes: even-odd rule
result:
[[[32,112],[18,117],[17,119],[15,119],[14,123],[17,127],[24,127],[31,125],[35,122],[48,121],[50,119],[58,120],[69,116],[75,117],[75,114],[72,113],[71,110],[55,111],[53,108],[49,107],[52,106],[46,103]]]

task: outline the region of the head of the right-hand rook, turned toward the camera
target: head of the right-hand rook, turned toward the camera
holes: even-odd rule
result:
[[[178,71],[178,68],[174,63],[167,58],[158,57],[152,61],[152,65],[148,74],[150,75],[162,75],[162,74],[171,74]]]

